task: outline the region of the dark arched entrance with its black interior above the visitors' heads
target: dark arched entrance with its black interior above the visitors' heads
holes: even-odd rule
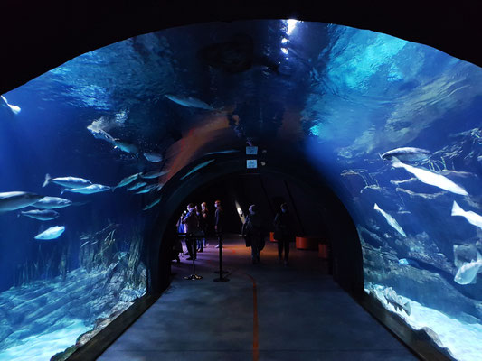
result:
[[[273,159],[273,165],[274,162],[277,161]],[[150,292],[162,292],[170,282],[170,249],[176,238],[175,224],[186,205],[206,201],[208,208],[213,210],[214,200],[220,199],[226,214],[226,232],[232,234],[241,232],[238,208],[244,214],[250,204],[257,204],[263,227],[269,232],[273,230],[272,221],[279,205],[287,202],[296,221],[297,236],[328,240],[334,280],[346,292],[361,294],[363,257],[354,222],[321,177],[300,162],[291,168],[285,164],[255,171],[247,171],[242,168],[243,164],[236,159],[218,160],[213,170],[193,176],[173,191],[165,207],[167,211],[158,216],[151,236]]]

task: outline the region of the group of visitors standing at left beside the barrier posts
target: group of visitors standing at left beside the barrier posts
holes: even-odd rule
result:
[[[214,202],[216,211],[214,217],[207,208],[206,202],[201,203],[201,209],[194,203],[189,203],[187,209],[177,221],[176,227],[179,234],[185,235],[186,252],[189,255],[188,260],[195,260],[198,252],[204,252],[204,248],[208,245],[208,237],[212,236],[213,230],[216,235],[222,233],[222,207],[221,201]],[[219,244],[216,245],[219,248]],[[180,263],[179,253],[183,252],[183,245],[180,241],[174,246],[174,259]]]

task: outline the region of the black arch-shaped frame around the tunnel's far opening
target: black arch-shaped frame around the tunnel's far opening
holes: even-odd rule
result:
[[[281,152],[279,150],[279,153]],[[166,192],[172,190],[172,193],[166,196],[168,199],[165,199],[165,211],[157,216],[150,236],[150,291],[161,292],[169,282],[171,263],[169,247],[172,245],[170,241],[175,238],[174,225],[178,214],[185,208],[185,204],[189,202],[192,194],[214,181],[227,180],[240,174],[260,172],[298,184],[321,206],[314,212],[319,212],[324,208],[318,217],[325,219],[326,223],[330,225],[328,236],[333,250],[333,277],[347,292],[354,295],[363,292],[362,248],[352,218],[341,200],[330,190],[317,171],[310,169],[309,164],[299,162],[299,158],[298,162],[291,162],[291,165],[288,165],[287,162],[292,160],[288,158],[288,154],[264,157],[262,162],[266,162],[265,166],[261,166],[255,171],[249,171],[246,169],[244,157],[241,159],[240,157],[216,159],[206,167],[206,170],[199,171],[185,182],[180,182],[179,179],[191,171],[196,163],[205,162],[205,159],[200,159],[199,162],[186,166],[185,170],[180,171],[174,179],[169,180],[172,183],[171,186],[168,183],[165,185]]]

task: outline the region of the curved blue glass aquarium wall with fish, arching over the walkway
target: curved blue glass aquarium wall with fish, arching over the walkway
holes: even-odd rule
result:
[[[99,316],[84,315],[68,282],[89,280],[101,266],[126,270],[129,279],[131,263],[125,264],[137,253],[134,239],[142,239],[145,222],[163,211],[160,184],[201,156],[252,143],[306,154],[354,219],[365,290],[411,327],[432,329],[456,358],[477,359],[481,77],[476,66],[421,44],[332,24],[275,20],[137,36],[5,94],[1,352],[13,352],[33,335],[47,345],[57,327],[80,333],[92,327],[92,318],[115,311],[109,305],[96,309]],[[42,187],[45,173],[114,186],[138,172],[167,170],[146,180],[144,195],[126,190],[134,183],[99,194],[66,191],[62,196],[71,205],[57,208],[61,215],[50,221],[33,214],[16,218],[17,210],[32,208],[9,209],[28,197],[4,194],[59,196],[55,181]],[[110,224],[119,225],[113,235]],[[51,226],[66,228],[53,240],[34,239]],[[99,233],[106,227],[107,235]],[[107,257],[109,244],[115,249]],[[90,273],[82,271],[84,253],[95,260]],[[136,259],[142,270],[142,257]],[[83,276],[71,280],[75,272]],[[137,281],[126,287],[145,290]],[[92,304],[107,300],[107,289],[92,295]],[[72,297],[64,301],[71,300],[75,312],[60,309],[45,317],[48,310],[40,305],[52,302],[41,290],[50,290],[54,300],[61,299],[56,292],[69,291]],[[115,300],[134,297],[117,291]],[[16,310],[32,317],[27,329]]]

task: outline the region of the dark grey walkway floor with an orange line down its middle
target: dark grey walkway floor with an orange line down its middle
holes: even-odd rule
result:
[[[217,243],[217,242],[216,242]],[[213,282],[218,252],[182,257],[170,288],[99,360],[416,359],[326,275],[316,251],[291,247],[288,266],[267,243],[261,263],[239,237],[225,241],[230,282]]]

